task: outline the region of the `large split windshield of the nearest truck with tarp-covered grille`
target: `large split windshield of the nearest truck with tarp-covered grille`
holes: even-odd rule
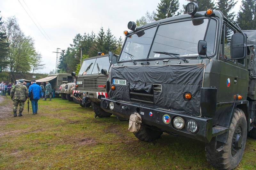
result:
[[[201,18],[159,25],[151,50],[156,27],[144,30],[144,34],[139,34],[142,36],[136,35],[138,33],[133,34],[131,38],[127,38],[119,61],[131,60],[124,52],[132,54],[134,60],[146,59],[147,56],[148,58],[170,57],[154,51],[169,52],[183,57],[197,56],[198,41],[204,39],[207,41],[207,55],[211,56],[214,52],[217,23],[211,19],[205,36],[208,21],[208,18]]]

